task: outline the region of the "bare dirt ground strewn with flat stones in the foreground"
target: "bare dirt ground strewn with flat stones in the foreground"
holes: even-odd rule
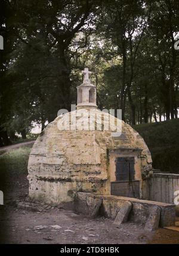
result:
[[[117,228],[112,220],[92,220],[64,209],[36,212],[8,208],[1,243],[146,243],[152,233],[134,223]]]

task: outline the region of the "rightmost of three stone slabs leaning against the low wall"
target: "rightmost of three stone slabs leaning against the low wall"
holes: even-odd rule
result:
[[[161,215],[161,208],[159,206],[150,207],[149,218],[147,219],[144,229],[153,231],[158,229]]]

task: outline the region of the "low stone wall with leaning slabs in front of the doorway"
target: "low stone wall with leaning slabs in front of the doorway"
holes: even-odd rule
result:
[[[161,208],[159,226],[167,227],[175,225],[175,205],[169,203],[140,200],[135,198],[125,198],[122,196],[97,195],[95,193],[78,192],[75,201],[75,210],[83,214],[90,214],[88,201],[103,201],[100,214],[115,220],[116,215],[121,210],[125,202],[132,203],[129,213],[129,221],[146,224],[153,206]],[[95,203],[95,202],[94,202]]]

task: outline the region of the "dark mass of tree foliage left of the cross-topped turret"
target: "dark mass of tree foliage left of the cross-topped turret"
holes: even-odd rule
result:
[[[73,97],[69,47],[76,33],[92,23],[95,4],[18,0],[3,1],[3,7],[6,12],[0,30],[5,36],[9,34],[13,50],[5,48],[5,58],[1,58],[0,132],[17,131],[25,137],[32,121],[44,127],[45,121],[53,121],[59,109],[70,109]],[[4,146],[4,134],[0,138]]]

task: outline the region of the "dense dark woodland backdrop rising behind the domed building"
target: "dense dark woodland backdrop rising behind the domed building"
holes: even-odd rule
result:
[[[0,145],[70,110],[85,66],[101,109],[177,118],[178,16],[177,0],[2,0]]]

